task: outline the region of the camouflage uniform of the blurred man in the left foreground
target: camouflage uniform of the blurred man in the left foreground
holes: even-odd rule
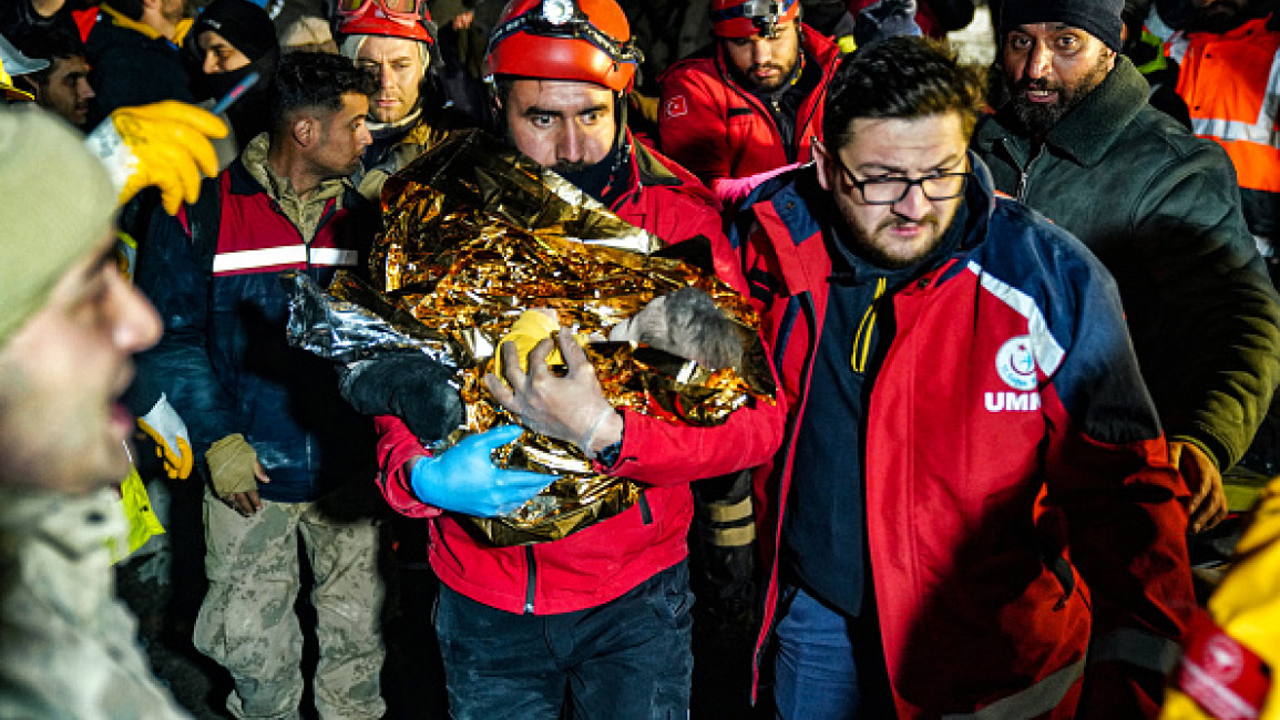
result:
[[[188,717],[115,600],[120,496],[0,487],[0,717]]]

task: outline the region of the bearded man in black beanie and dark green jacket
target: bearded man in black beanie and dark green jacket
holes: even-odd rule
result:
[[[1193,492],[1192,528],[1226,514],[1280,371],[1280,307],[1217,145],[1147,104],[1117,52],[1121,0],[1007,0],[1007,102],[974,151],[996,189],[1080,238],[1115,275],[1142,377]]]

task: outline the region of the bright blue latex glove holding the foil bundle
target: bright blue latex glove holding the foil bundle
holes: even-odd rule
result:
[[[440,455],[420,459],[410,476],[413,495],[428,505],[477,518],[515,510],[556,480],[549,474],[494,467],[490,459],[494,449],[522,432],[524,428],[515,425],[494,427],[462,440]]]

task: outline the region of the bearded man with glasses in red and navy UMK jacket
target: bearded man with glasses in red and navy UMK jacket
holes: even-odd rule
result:
[[[756,472],[777,717],[1151,715],[1194,607],[1115,284],[996,197],[982,86],[851,55],[815,162],[730,223],[794,414]]]

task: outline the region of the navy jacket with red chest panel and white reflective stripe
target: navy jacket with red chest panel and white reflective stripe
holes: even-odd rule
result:
[[[305,242],[239,159],[218,189],[216,252],[192,240],[191,208],[157,211],[140,247],[136,281],[165,324],[140,375],[168,393],[197,453],[242,434],[271,478],[259,487],[266,500],[314,500],[335,483],[371,480],[371,423],[338,394],[332,363],[288,345],[280,272],[326,285],[338,267],[364,267],[376,208],[348,189],[328,201]]]

